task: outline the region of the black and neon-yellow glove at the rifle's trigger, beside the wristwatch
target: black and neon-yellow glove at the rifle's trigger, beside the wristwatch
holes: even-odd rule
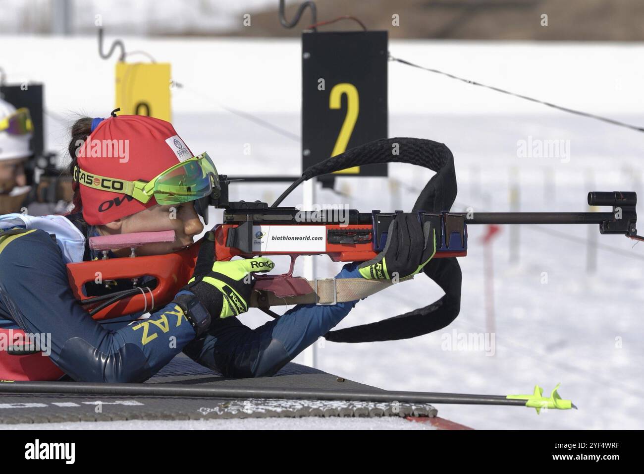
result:
[[[183,289],[194,293],[213,319],[245,313],[251,299],[250,273],[269,272],[275,264],[265,257],[217,262],[212,239],[212,232],[204,235],[193,277]]]

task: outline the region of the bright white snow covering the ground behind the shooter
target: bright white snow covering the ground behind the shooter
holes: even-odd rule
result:
[[[93,38],[46,42],[5,37],[3,41],[9,45],[23,41],[20,44],[28,51],[19,55],[18,48],[7,48],[8,55],[3,52],[10,80],[14,73],[8,65],[17,71],[13,80],[21,76],[48,84],[50,148],[62,148],[64,130],[73,114],[105,116],[111,110],[113,64],[97,58]],[[186,84],[173,93],[175,128],[193,151],[208,150],[220,172],[299,172],[297,141],[218,106],[252,112],[299,134],[298,43],[128,41],[152,52],[159,61],[173,61],[176,80]],[[185,48],[193,54],[181,55]],[[644,66],[632,61],[642,48],[632,44],[410,41],[392,42],[390,51],[516,92],[644,124],[642,98],[636,93]],[[205,54],[207,50],[212,54]],[[61,74],[55,63],[71,64],[66,69],[69,74]],[[553,112],[402,64],[390,65],[390,111],[390,136],[430,138],[451,148],[459,179],[455,210],[468,206],[475,211],[511,210],[512,183],[518,184],[520,210],[524,211],[585,211],[591,190],[634,190],[642,195],[641,133]],[[520,156],[520,141],[535,140],[563,141],[564,151],[549,157]],[[243,154],[245,143],[251,143],[251,155]],[[363,211],[409,209],[431,173],[392,164],[390,175],[387,182],[341,178],[338,188],[350,194],[348,199],[318,190],[316,201],[347,203]],[[240,184],[231,198],[271,201],[284,187]],[[295,192],[284,204],[300,202],[301,192]],[[510,262],[510,232],[503,228],[493,244],[493,355],[492,351],[443,350],[453,331],[457,336],[486,332],[484,248],[480,243],[484,232],[481,226],[469,228],[469,255],[460,259],[464,275],[461,313],[451,326],[407,341],[325,342],[317,348],[318,368],[389,390],[531,393],[537,383],[549,392],[561,382],[562,397],[572,399],[579,408],[542,411],[537,416],[533,410],[517,407],[437,406],[440,417],[473,428],[643,428],[644,410],[639,404],[644,396],[642,244],[633,246],[622,236],[598,235],[596,226],[522,226],[520,259]],[[587,271],[587,255],[594,255],[588,239],[596,239],[601,246],[596,250],[594,272]],[[325,257],[316,259],[318,276],[339,269]],[[400,314],[440,294],[428,279],[417,277],[359,302],[339,327]],[[254,311],[243,321],[258,326],[267,317]]]

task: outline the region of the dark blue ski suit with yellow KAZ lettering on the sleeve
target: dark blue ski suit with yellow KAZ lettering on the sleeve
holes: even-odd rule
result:
[[[84,232],[88,239],[97,235],[92,226]],[[84,260],[95,257],[86,246]],[[357,264],[346,264],[337,275],[349,277],[359,277]],[[256,329],[236,317],[217,319],[196,339],[173,303],[149,319],[138,319],[142,313],[91,319],[71,291],[61,249],[44,230],[0,242],[0,328],[50,334],[52,362],[77,381],[143,382],[182,351],[225,377],[273,375],[355,303],[302,304]]]

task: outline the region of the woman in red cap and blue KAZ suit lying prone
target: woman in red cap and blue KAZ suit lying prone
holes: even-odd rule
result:
[[[127,156],[96,156],[97,150],[83,146],[87,139],[90,144],[127,143],[121,148]],[[158,324],[168,321],[167,332],[142,338],[133,322],[142,313],[94,321],[73,296],[66,264],[99,257],[87,244],[96,235],[175,231],[174,242],[146,244],[137,255],[170,253],[191,245],[194,235],[204,229],[194,204],[211,193],[217,175],[207,154],[194,156],[170,123],[152,117],[80,119],[71,129],[69,152],[70,172],[75,172],[75,208],[70,214],[0,216],[0,231],[5,231],[0,232],[0,329],[50,334],[50,359],[72,379],[142,382],[181,351],[226,377],[272,375],[355,306],[356,301],[303,304],[251,330],[236,317],[247,311],[251,295],[252,281],[244,277],[251,262],[263,262],[268,268],[272,262],[266,258],[216,262],[212,254],[202,252],[193,279],[173,302],[149,317]],[[87,179],[88,175],[100,179]],[[26,232],[6,232],[11,230]],[[434,239],[423,234],[416,219],[397,219],[393,231],[388,246],[373,261],[346,264],[337,278],[389,278],[394,272],[405,277],[419,272],[433,256]],[[207,247],[213,246],[204,245],[202,250]],[[128,253],[116,250],[110,257]],[[231,293],[236,298],[229,298]]]

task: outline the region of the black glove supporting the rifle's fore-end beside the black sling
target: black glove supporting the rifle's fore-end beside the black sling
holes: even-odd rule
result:
[[[389,224],[383,251],[359,264],[358,272],[370,280],[405,278],[419,273],[435,253],[436,230],[430,222],[422,226],[415,213],[399,213]]]

